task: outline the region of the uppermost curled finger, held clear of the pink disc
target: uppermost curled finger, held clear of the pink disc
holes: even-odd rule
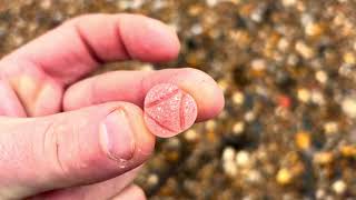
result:
[[[39,70],[44,72],[41,76],[68,86],[105,62],[169,61],[178,56],[179,48],[177,34],[158,20],[139,14],[87,14],[4,57],[1,72]]]

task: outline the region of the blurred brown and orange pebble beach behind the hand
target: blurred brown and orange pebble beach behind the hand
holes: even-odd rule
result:
[[[89,12],[160,19],[171,63],[214,77],[225,111],[161,140],[137,183],[150,199],[356,199],[356,1],[0,0],[0,56]]]

